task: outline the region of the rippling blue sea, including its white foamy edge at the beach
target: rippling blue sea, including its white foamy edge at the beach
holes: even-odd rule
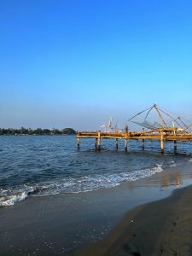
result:
[[[60,193],[87,193],[109,189],[121,183],[149,177],[166,167],[192,160],[192,143],[166,143],[160,154],[160,142],[103,139],[102,151],[95,140],[82,139],[77,148],[75,136],[1,136],[0,207],[9,207],[29,196]]]

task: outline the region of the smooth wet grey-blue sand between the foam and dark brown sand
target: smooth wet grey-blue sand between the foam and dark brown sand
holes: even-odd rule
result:
[[[187,163],[111,189],[29,197],[4,207],[0,209],[0,255],[73,255],[109,237],[126,212],[192,184],[191,170]]]

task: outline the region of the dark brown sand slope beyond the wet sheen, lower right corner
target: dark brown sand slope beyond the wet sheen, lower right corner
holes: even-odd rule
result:
[[[192,255],[192,186],[135,208],[110,236],[76,255]]]

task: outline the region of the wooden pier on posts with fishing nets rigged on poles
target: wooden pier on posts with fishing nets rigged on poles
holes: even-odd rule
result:
[[[155,125],[149,125],[146,121],[148,114],[150,111],[154,109],[156,113],[158,113],[158,117],[160,122],[155,122]],[[142,141],[142,148],[145,148],[145,141],[159,141],[160,142],[160,150],[161,153],[164,153],[165,143],[172,142],[174,152],[177,150],[177,142],[192,142],[192,132],[189,130],[189,127],[192,125],[186,125],[182,121],[181,125],[181,118],[174,119],[169,113],[165,113],[164,111],[157,108],[157,105],[154,104],[151,108],[148,108],[140,113],[137,113],[133,118],[129,119],[131,121],[137,115],[147,112],[143,123],[138,123],[136,121],[132,121],[138,125],[142,125],[143,127],[149,127],[148,131],[128,131],[128,126],[125,125],[124,131],[113,131],[111,127],[111,120],[109,121],[108,125],[102,125],[102,127],[107,127],[108,131],[77,131],[76,138],[78,148],[80,148],[80,139],[82,138],[93,138],[95,139],[95,147],[98,150],[101,150],[102,139],[115,139],[115,146],[116,149],[119,148],[119,139],[125,140],[125,151],[128,150],[129,140],[141,140]],[[163,118],[163,114],[166,114],[169,118],[171,118],[172,127],[166,124],[165,119]],[[179,122],[180,120],[180,122]],[[175,126],[179,126],[178,128]]]

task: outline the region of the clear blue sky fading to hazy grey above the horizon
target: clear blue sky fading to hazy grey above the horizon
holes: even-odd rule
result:
[[[154,103],[192,120],[191,0],[0,1],[0,127],[95,131]]]

